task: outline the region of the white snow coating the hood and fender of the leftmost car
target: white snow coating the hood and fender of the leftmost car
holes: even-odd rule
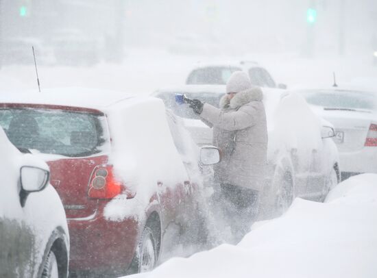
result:
[[[19,223],[19,226],[16,227],[24,227],[22,235],[25,236],[27,240],[29,240],[27,233],[31,231],[32,240],[34,241],[29,243],[32,244],[32,247],[35,247],[35,251],[33,257],[29,258],[29,261],[34,262],[34,265],[38,266],[42,263],[42,257],[47,242],[53,230],[57,229],[57,227],[64,230],[66,234],[64,240],[66,240],[66,247],[69,249],[69,231],[64,207],[58,193],[50,184],[40,192],[30,193],[25,202],[25,206],[21,207],[19,197],[21,190],[19,182],[21,166],[33,166],[45,170],[49,170],[49,167],[43,160],[38,159],[36,155],[29,153],[23,154],[16,149],[8,140],[1,127],[0,157],[0,224],[3,220],[15,220],[16,223]],[[1,236],[9,236],[6,231],[7,228],[10,229],[10,227],[7,226],[6,222],[3,229],[0,229],[0,232],[4,231],[4,228],[5,235],[1,234]],[[8,232],[9,231],[12,230],[8,230]],[[18,239],[25,240],[25,238]],[[8,238],[8,240],[10,239]],[[10,240],[10,242],[12,242],[12,240]],[[27,248],[27,244],[23,242],[19,248]],[[6,253],[5,249],[5,254]],[[36,277],[38,268],[35,269],[34,265],[30,265],[29,268],[27,268],[29,277]],[[21,264],[19,267],[21,271],[25,265]],[[5,270],[5,273],[7,273],[7,270]]]

